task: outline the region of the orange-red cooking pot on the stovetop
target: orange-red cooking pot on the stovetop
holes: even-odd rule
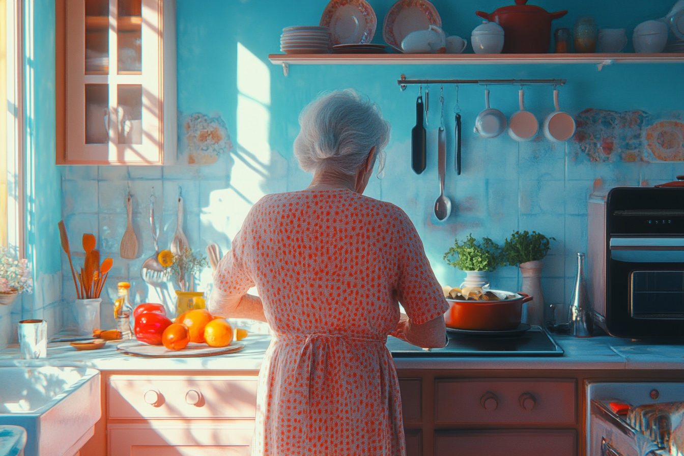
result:
[[[532,297],[525,293],[488,291],[501,298],[512,296],[512,299],[463,301],[447,298],[449,310],[444,314],[447,327],[473,331],[506,331],[518,327],[523,314],[523,303],[531,301]]]

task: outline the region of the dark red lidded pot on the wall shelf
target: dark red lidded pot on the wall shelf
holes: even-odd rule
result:
[[[550,13],[527,0],[515,0],[515,5],[498,8],[492,14],[476,11],[475,14],[503,28],[505,54],[545,54],[551,43],[551,21],[568,14],[567,10]]]

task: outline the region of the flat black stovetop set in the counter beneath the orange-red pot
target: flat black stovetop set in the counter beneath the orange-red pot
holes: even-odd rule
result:
[[[563,356],[563,349],[546,330],[533,326],[518,337],[449,338],[446,347],[426,350],[404,340],[389,337],[387,348],[393,358],[451,358],[454,356]]]

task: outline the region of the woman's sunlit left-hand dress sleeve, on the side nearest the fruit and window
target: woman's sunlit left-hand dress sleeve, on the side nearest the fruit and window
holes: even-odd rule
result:
[[[254,286],[254,280],[246,265],[244,239],[246,235],[243,226],[231,243],[231,250],[221,258],[214,274],[214,286],[228,295],[244,295]],[[247,234],[248,235],[248,234]]]

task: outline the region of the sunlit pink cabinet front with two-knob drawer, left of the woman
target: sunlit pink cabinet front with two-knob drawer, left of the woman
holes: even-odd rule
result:
[[[109,456],[248,455],[257,377],[110,375]]]

